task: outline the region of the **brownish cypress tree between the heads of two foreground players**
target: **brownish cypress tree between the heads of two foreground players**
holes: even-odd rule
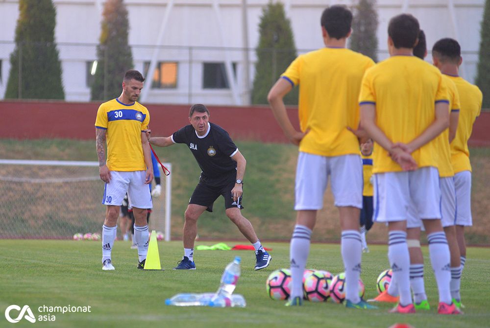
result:
[[[359,0],[352,20],[350,48],[378,61],[378,13],[374,9],[376,0]]]

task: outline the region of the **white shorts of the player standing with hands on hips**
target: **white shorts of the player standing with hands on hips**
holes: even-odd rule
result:
[[[300,152],[296,167],[294,210],[320,210],[330,175],[337,207],[363,207],[363,167],[361,156],[326,157]]]

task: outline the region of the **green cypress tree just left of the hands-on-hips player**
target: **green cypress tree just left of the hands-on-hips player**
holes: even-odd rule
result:
[[[255,49],[257,63],[253,80],[252,103],[267,104],[270,88],[296,58],[291,23],[286,18],[284,5],[270,1],[260,17],[260,39]],[[298,103],[298,90],[294,88],[284,97],[285,104]]]

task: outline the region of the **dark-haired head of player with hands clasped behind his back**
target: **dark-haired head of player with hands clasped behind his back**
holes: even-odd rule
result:
[[[395,48],[413,48],[416,46],[420,25],[417,18],[410,14],[393,17],[388,24],[388,35]]]

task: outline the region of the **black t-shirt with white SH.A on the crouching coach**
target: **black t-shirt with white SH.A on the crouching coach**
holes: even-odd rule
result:
[[[201,168],[203,180],[221,180],[231,172],[236,174],[237,162],[230,156],[234,155],[238,148],[228,132],[219,125],[210,122],[208,132],[203,137],[197,136],[192,125],[186,125],[173,133],[172,141],[189,146]]]

